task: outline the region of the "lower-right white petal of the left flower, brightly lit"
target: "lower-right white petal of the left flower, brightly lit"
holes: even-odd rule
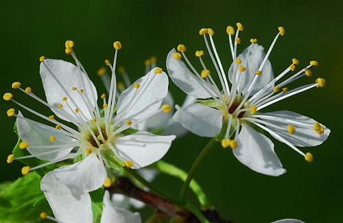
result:
[[[139,131],[115,141],[119,157],[132,161],[132,168],[138,169],[160,160],[169,150],[175,136],[157,136],[150,132]]]

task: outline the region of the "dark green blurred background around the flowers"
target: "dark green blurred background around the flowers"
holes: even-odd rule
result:
[[[303,78],[293,86],[327,80],[324,89],[312,89],[285,99],[270,110],[293,110],[314,117],[331,128],[329,139],[316,148],[304,148],[314,154],[314,163],[275,142],[287,174],[279,177],[252,172],[235,159],[230,150],[217,146],[204,161],[196,179],[204,187],[212,204],[224,218],[235,222],[271,222],[298,218],[305,222],[343,222],[342,160],[342,7],[340,1],[1,1],[1,92],[12,91],[12,82],[45,97],[38,73],[38,58],[60,58],[64,41],[75,41],[75,51],[99,89],[97,69],[104,59],[113,58],[113,41],[121,40],[118,64],[126,67],[132,80],[144,75],[145,58],[157,56],[158,66],[165,68],[167,52],[178,43],[187,46],[189,58],[197,64],[193,52],[204,49],[198,35],[201,27],[212,27],[215,43],[227,70],[230,53],[226,26],[241,22],[242,51],[250,38],[268,48],[277,27],[283,25],[285,36],[279,38],[270,56],[274,73],[281,72],[296,57],[300,65],[318,60],[312,78]],[[208,64],[209,58],[206,59]],[[176,103],[185,94],[170,83]],[[99,91],[101,93],[101,91]],[[49,112],[22,93],[16,99],[36,110]],[[14,119],[6,117],[13,105],[0,106],[0,180],[19,177],[21,164],[8,165],[5,160],[16,143],[12,132]],[[188,169],[209,139],[193,134],[177,139],[166,161]],[[156,185],[177,194],[181,183],[159,176]],[[145,211],[149,211],[146,209]]]

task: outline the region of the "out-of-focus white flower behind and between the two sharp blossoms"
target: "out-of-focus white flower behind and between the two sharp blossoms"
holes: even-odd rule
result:
[[[105,64],[110,66],[109,60],[105,60]],[[156,57],[152,56],[150,59],[145,60],[145,71],[150,71],[150,69],[154,69],[156,67]],[[121,73],[121,77],[123,82],[117,83],[117,94],[116,97],[118,98],[122,91],[126,89],[126,87],[131,85],[131,81],[129,78],[126,69],[123,67],[118,67],[119,73]],[[106,91],[110,91],[110,77],[108,73],[106,73],[106,68],[101,67],[97,74],[102,79]],[[185,101],[183,102],[181,108],[192,104],[196,98],[192,97],[191,95],[187,95]],[[171,106],[171,111],[169,113],[158,113],[144,121],[141,121],[137,124],[137,129],[144,130],[148,132],[154,132],[162,135],[170,135],[174,134],[176,137],[182,137],[187,134],[188,130],[184,128],[178,121],[174,120],[174,99],[171,93],[168,91],[165,99],[163,99],[162,104],[169,104]]]

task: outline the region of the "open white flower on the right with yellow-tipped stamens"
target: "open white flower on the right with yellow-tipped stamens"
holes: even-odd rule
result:
[[[233,58],[228,76],[224,72],[213,42],[213,30],[200,30],[200,35],[204,36],[206,48],[215,67],[215,72],[212,73],[218,74],[220,86],[215,84],[211,71],[202,60],[204,51],[196,51],[196,56],[203,67],[200,73],[189,62],[185,54],[185,45],[178,45],[179,52],[174,49],[169,52],[167,69],[171,80],[182,91],[198,98],[198,103],[180,108],[174,118],[185,128],[202,137],[214,137],[222,130],[220,137],[222,137],[223,147],[230,146],[235,149],[233,154],[241,163],[256,172],[279,176],[285,173],[285,169],[274,152],[274,144],[264,134],[257,132],[255,127],[269,132],[272,137],[286,143],[290,148],[305,156],[306,161],[309,162],[313,159],[312,154],[305,154],[297,147],[319,145],[327,139],[330,130],[314,119],[291,111],[261,113],[261,109],[308,89],[322,87],[325,81],[318,78],[314,84],[300,86],[290,91],[285,87],[286,84],[298,78],[310,76],[309,67],[318,65],[318,62],[311,61],[307,67],[275,86],[276,82],[289,71],[294,71],[296,65],[299,64],[294,58],[292,64],[274,78],[268,56],[277,38],[283,36],[285,30],[279,27],[279,32],[267,54],[264,53],[263,47],[257,45],[257,39],[252,38],[251,45],[236,56],[237,44],[241,42],[238,34],[243,30],[241,23],[237,23],[237,27],[236,34],[233,27],[227,28]],[[235,43],[232,40],[234,34]],[[186,64],[182,62],[182,58]],[[187,68],[187,65],[191,70]],[[283,91],[279,92],[280,89]]]

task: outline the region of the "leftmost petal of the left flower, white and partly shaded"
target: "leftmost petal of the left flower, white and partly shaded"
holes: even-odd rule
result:
[[[18,116],[23,117],[20,111]],[[57,130],[56,128],[52,128],[44,124],[38,124],[32,121],[27,121],[25,119],[21,119],[20,117],[16,119],[16,127],[18,128],[18,133],[21,139],[29,143],[29,147],[27,148],[29,153],[36,156],[38,159],[42,159],[45,161],[54,161],[56,159],[60,159],[64,156],[67,156],[67,154],[69,154],[69,152],[73,150],[72,146],[63,145],[70,144],[73,141],[75,141],[75,139],[69,137],[67,134],[63,134],[60,130]],[[56,140],[53,142],[49,140],[49,137],[51,135],[56,138]],[[61,147],[33,148],[32,145],[61,145]],[[56,152],[39,155],[40,153],[49,152],[53,150],[56,150]]]

